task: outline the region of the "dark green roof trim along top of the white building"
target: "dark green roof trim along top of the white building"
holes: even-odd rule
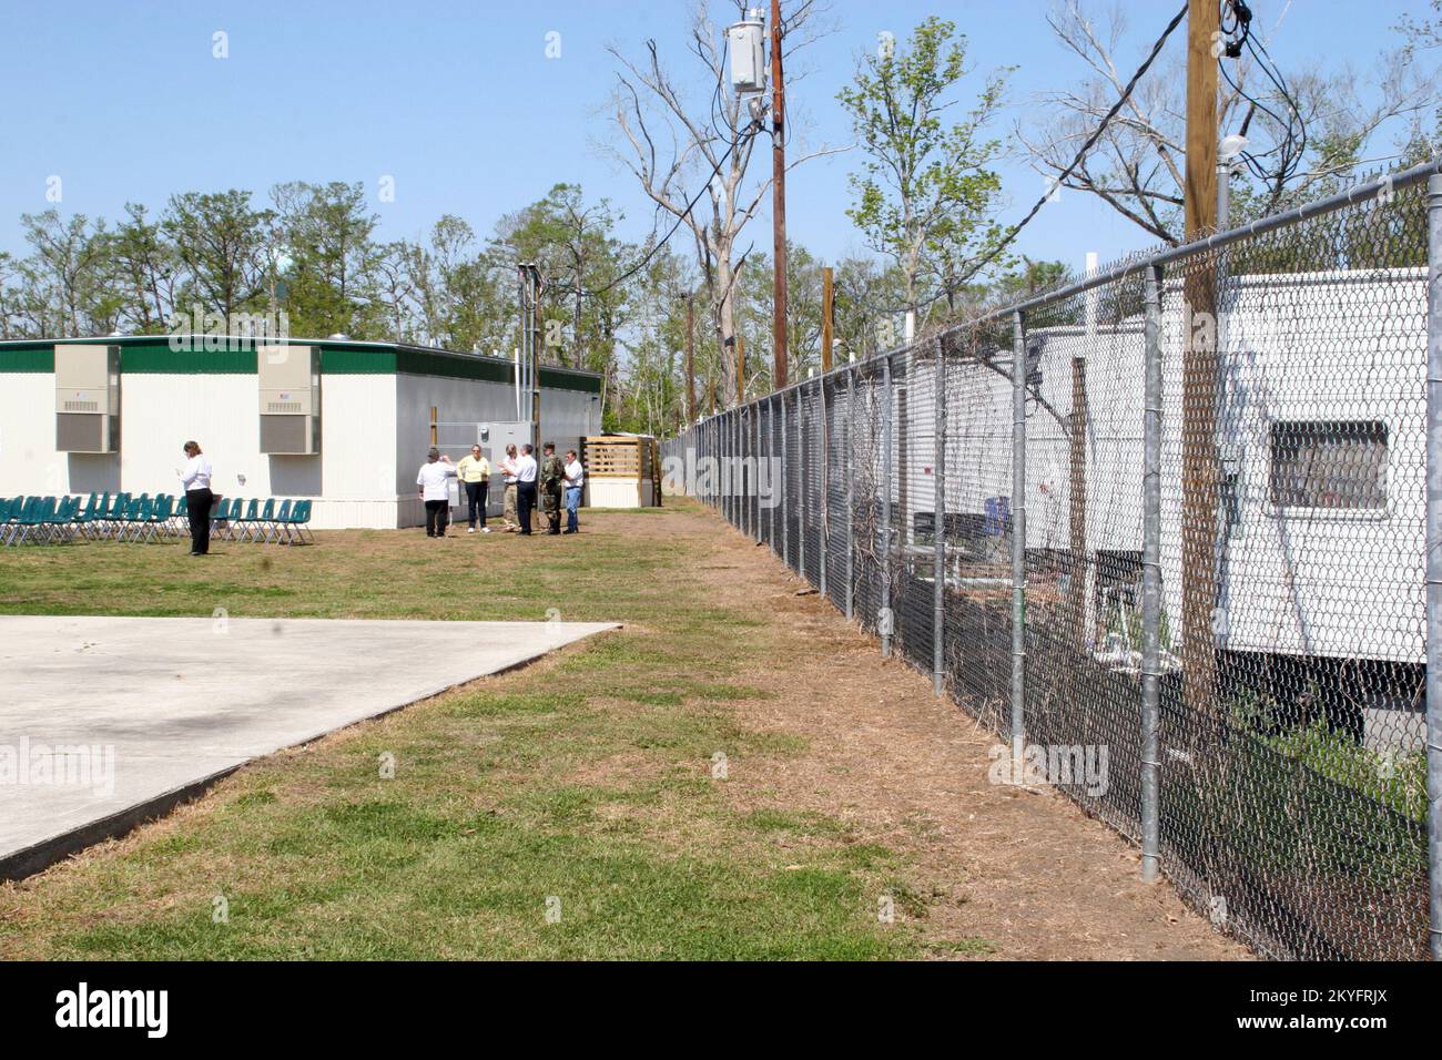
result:
[[[94,339],[10,339],[0,342],[0,372],[55,372],[55,348],[68,345],[120,346],[123,375],[255,375],[255,349],[205,349],[187,336],[180,349],[164,335],[111,335]],[[322,375],[433,375],[480,382],[515,382],[513,362],[480,353],[343,339],[291,339],[296,346],[320,349]],[[574,368],[541,366],[545,389],[600,394],[601,376]]]

